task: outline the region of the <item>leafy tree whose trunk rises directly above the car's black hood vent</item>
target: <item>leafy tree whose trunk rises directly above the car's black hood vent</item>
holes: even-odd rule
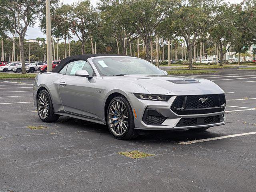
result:
[[[212,0],[207,2],[183,0],[171,19],[173,27],[176,28],[176,34],[182,36],[186,41],[190,70],[193,65],[192,50],[196,44],[201,42],[200,37],[205,36],[212,24],[212,6]]]

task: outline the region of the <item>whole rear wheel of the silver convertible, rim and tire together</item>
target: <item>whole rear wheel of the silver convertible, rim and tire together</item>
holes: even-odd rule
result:
[[[43,122],[56,122],[59,115],[54,114],[52,100],[47,90],[42,90],[37,98],[38,116]]]

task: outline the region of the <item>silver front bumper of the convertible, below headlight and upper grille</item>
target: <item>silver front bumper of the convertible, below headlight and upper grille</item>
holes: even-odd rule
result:
[[[226,124],[224,111],[207,114],[178,115],[171,110],[171,106],[177,96],[172,96],[167,102],[140,100],[133,94],[126,98],[131,104],[132,110],[136,112],[134,118],[135,129],[141,130],[182,130],[192,128],[204,128]],[[146,119],[147,113],[151,117]],[[155,116],[154,116],[155,115]],[[134,114],[135,116],[135,114]],[[160,118],[154,118],[161,116]],[[190,121],[192,122],[190,124]],[[150,122],[150,123],[149,123]],[[151,122],[154,122],[153,124]],[[189,122],[189,123],[187,123]]]

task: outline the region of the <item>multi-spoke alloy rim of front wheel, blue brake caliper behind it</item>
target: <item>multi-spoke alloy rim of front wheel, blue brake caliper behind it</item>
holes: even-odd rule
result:
[[[111,131],[116,136],[122,136],[128,127],[128,112],[125,104],[115,100],[108,110],[108,123]]]

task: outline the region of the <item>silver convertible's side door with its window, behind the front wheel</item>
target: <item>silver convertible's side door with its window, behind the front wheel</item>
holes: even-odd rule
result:
[[[97,118],[92,112],[97,78],[94,76],[92,67],[88,62],[83,60],[70,62],[65,67],[66,75],[62,77],[59,83],[59,93],[64,110],[68,113],[86,118]],[[75,76],[77,70],[86,70],[93,78],[88,79],[86,77]]]

